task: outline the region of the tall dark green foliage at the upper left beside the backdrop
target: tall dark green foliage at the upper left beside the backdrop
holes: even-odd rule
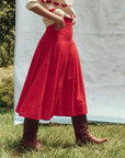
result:
[[[0,0],[0,67],[13,65],[15,0]]]

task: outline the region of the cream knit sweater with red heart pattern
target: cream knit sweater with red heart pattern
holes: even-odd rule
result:
[[[72,0],[26,0],[26,9],[32,9],[37,5],[43,5],[48,11],[54,12],[55,14],[66,16],[69,19],[76,18],[76,12],[72,9]],[[43,18],[43,21],[46,26],[54,24],[53,20]]]

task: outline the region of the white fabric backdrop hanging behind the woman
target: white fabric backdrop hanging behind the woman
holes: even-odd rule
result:
[[[73,0],[78,46],[87,92],[88,119],[125,123],[125,0]],[[42,18],[16,0],[14,106],[45,26]],[[70,117],[52,119],[71,123]],[[14,112],[14,123],[22,123]]]

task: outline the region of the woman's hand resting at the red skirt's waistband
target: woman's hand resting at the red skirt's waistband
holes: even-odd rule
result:
[[[55,30],[59,31],[60,29],[63,29],[65,26],[65,21],[64,18],[60,16],[56,22],[55,22]]]

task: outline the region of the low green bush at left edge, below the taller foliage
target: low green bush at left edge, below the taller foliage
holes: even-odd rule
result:
[[[14,103],[14,86],[13,78],[5,78],[0,84],[0,106],[13,108]]]

